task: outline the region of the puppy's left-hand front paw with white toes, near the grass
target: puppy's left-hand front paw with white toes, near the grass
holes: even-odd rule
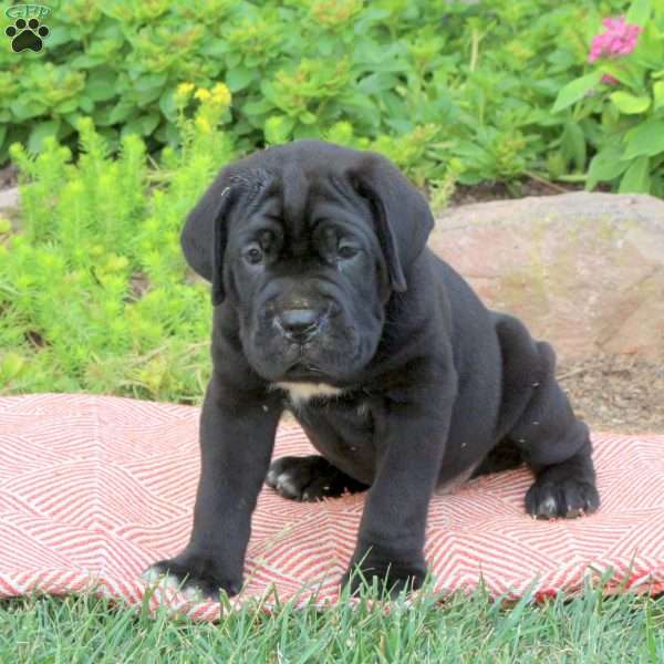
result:
[[[187,553],[155,562],[141,578],[147,583],[180,588],[183,594],[194,601],[218,601],[220,591],[232,596],[240,592],[242,585],[241,578],[229,578],[214,558]]]

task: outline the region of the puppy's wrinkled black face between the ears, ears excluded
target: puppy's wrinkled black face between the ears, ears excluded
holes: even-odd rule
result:
[[[289,176],[236,205],[230,220],[224,264],[240,339],[266,380],[343,382],[380,341],[385,261],[350,187],[344,196],[326,176]]]

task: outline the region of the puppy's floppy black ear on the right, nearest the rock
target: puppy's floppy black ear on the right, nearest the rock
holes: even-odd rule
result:
[[[407,288],[404,273],[434,228],[428,204],[396,166],[376,153],[364,153],[349,175],[357,194],[371,204],[390,284],[403,292]]]

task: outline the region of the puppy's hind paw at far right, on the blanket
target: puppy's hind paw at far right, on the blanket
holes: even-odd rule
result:
[[[575,477],[539,478],[526,494],[526,510],[538,519],[573,519],[595,511],[599,506],[600,495],[594,484]]]

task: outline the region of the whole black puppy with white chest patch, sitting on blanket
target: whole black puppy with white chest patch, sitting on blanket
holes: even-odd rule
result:
[[[194,528],[148,579],[237,593],[266,477],[299,500],[369,489],[351,566],[397,588],[425,574],[434,491],[490,470],[502,449],[535,471],[530,515],[598,508],[588,427],[553,350],[425,248],[433,225],[424,197],[369,152],[302,141],[219,174],[181,235],[215,305]],[[321,457],[269,468],[283,408]]]

